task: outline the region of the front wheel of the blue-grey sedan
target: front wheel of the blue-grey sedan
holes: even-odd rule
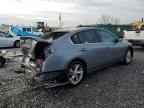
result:
[[[132,61],[132,51],[127,49],[125,56],[124,56],[124,64],[128,65]]]

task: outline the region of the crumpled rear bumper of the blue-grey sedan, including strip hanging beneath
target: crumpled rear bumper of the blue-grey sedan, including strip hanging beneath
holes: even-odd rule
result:
[[[27,65],[22,63],[21,66],[27,71],[24,74],[27,74],[27,78],[31,81],[30,85],[36,88],[53,88],[68,84],[66,80],[63,80],[63,71],[41,73],[40,69],[36,68],[33,64]]]

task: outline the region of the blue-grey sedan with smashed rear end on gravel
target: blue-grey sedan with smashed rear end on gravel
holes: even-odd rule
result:
[[[131,43],[103,29],[59,30],[50,33],[47,39],[53,41],[21,40],[24,54],[21,65],[25,73],[40,81],[61,78],[75,86],[87,74],[117,62],[129,64],[133,57]]]

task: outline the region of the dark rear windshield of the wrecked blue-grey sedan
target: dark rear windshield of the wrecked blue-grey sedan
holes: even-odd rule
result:
[[[42,36],[42,39],[53,39],[56,40],[60,37],[62,37],[63,35],[67,34],[68,32],[51,32],[50,34],[44,35]]]

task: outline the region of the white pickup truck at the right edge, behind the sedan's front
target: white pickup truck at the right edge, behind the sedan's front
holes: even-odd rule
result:
[[[144,30],[125,30],[124,40],[131,42],[133,45],[144,46]]]

